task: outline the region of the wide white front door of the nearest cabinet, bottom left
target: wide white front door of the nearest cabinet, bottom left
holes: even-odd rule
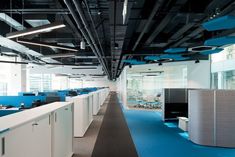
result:
[[[2,157],[51,157],[49,118],[45,115],[6,132]]]

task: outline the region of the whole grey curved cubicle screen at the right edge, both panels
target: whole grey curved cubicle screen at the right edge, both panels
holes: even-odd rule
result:
[[[189,137],[201,145],[235,147],[235,90],[189,91]]]

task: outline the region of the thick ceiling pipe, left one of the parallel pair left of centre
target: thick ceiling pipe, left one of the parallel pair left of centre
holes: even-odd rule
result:
[[[104,68],[104,71],[105,73],[108,75],[108,77],[110,78],[110,75],[109,75],[109,72],[106,68],[106,65],[104,64],[104,61],[103,59],[100,57],[100,54],[97,53],[97,51],[95,50],[92,42],[91,42],[91,39],[89,38],[89,36],[87,35],[86,33],[86,30],[84,29],[84,26],[81,22],[81,20],[77,17],[77,14],[75,13],[75,9],[72,7],[72,4],[69,2],[69,0],[64,0],[67,8],[69,9],[74,21],[76,22],[77,24],[77,27],[79,28],[79,30],[81,31],[82,35],[84,36],[84,38],[86,39],[87,43],[89,44],[89,46],[91,47],[92,51],[94,52],[94,54],[97,56],[99,62],[101,63],[101,65],[103,66]]]

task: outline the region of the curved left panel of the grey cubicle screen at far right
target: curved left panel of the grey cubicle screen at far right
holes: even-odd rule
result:
[[[196,144],[215,146],[214,91],[189,90],[189,138]]]

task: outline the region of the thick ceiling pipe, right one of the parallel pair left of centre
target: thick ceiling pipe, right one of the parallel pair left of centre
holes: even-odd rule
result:
[[[94,46],[94,48],[95,48],[95,50],[96,50],[96,52],[97,52],[97,55],[99,56],[98,58],[100,58],[100,61],[102,62],[101,64],[103,65],[103,68],[104,68],[105,71],[107,72],[106,74],[107,74],[107,75],[109,76],[109,78],[111,79],[110,74],[109,74],[109,72],[108,72],[108,70],[107,70],[107,66],[106,66],[106,64],[104,63],[104,59],[102,58],[102,55],[101,55],[100,50],[99,50],[99,48],[98,48],[98,46],[97,46],[97,44],[96,44],[96,42],[95,42],[95,39],[94,39],[94,37],[93,37],[93,34],[91,33],[91,30],[89,29],[89,25],[88,25],[88,23],[87,23],[87,20],[86,20],[86,17],[85,17],[85,15],[84,15],[84,13],[83,13],[81,1],[76,1],[76,0],[72,0],[72,1],[73,1],[74,5],[75,5],[77,11],[78,11],[78,14],[80,15],[80,18],[81,18],[81,20],[82,20],[82,23],[83,23],[83,25],[84,25],[84,27],[85,27],[85,30],[86,30],[87,33],[88,33],[88,36],[89,36],[90,39],[91,39],[91,42],[92,42],[92,44],[93,44],[93,46]]]

